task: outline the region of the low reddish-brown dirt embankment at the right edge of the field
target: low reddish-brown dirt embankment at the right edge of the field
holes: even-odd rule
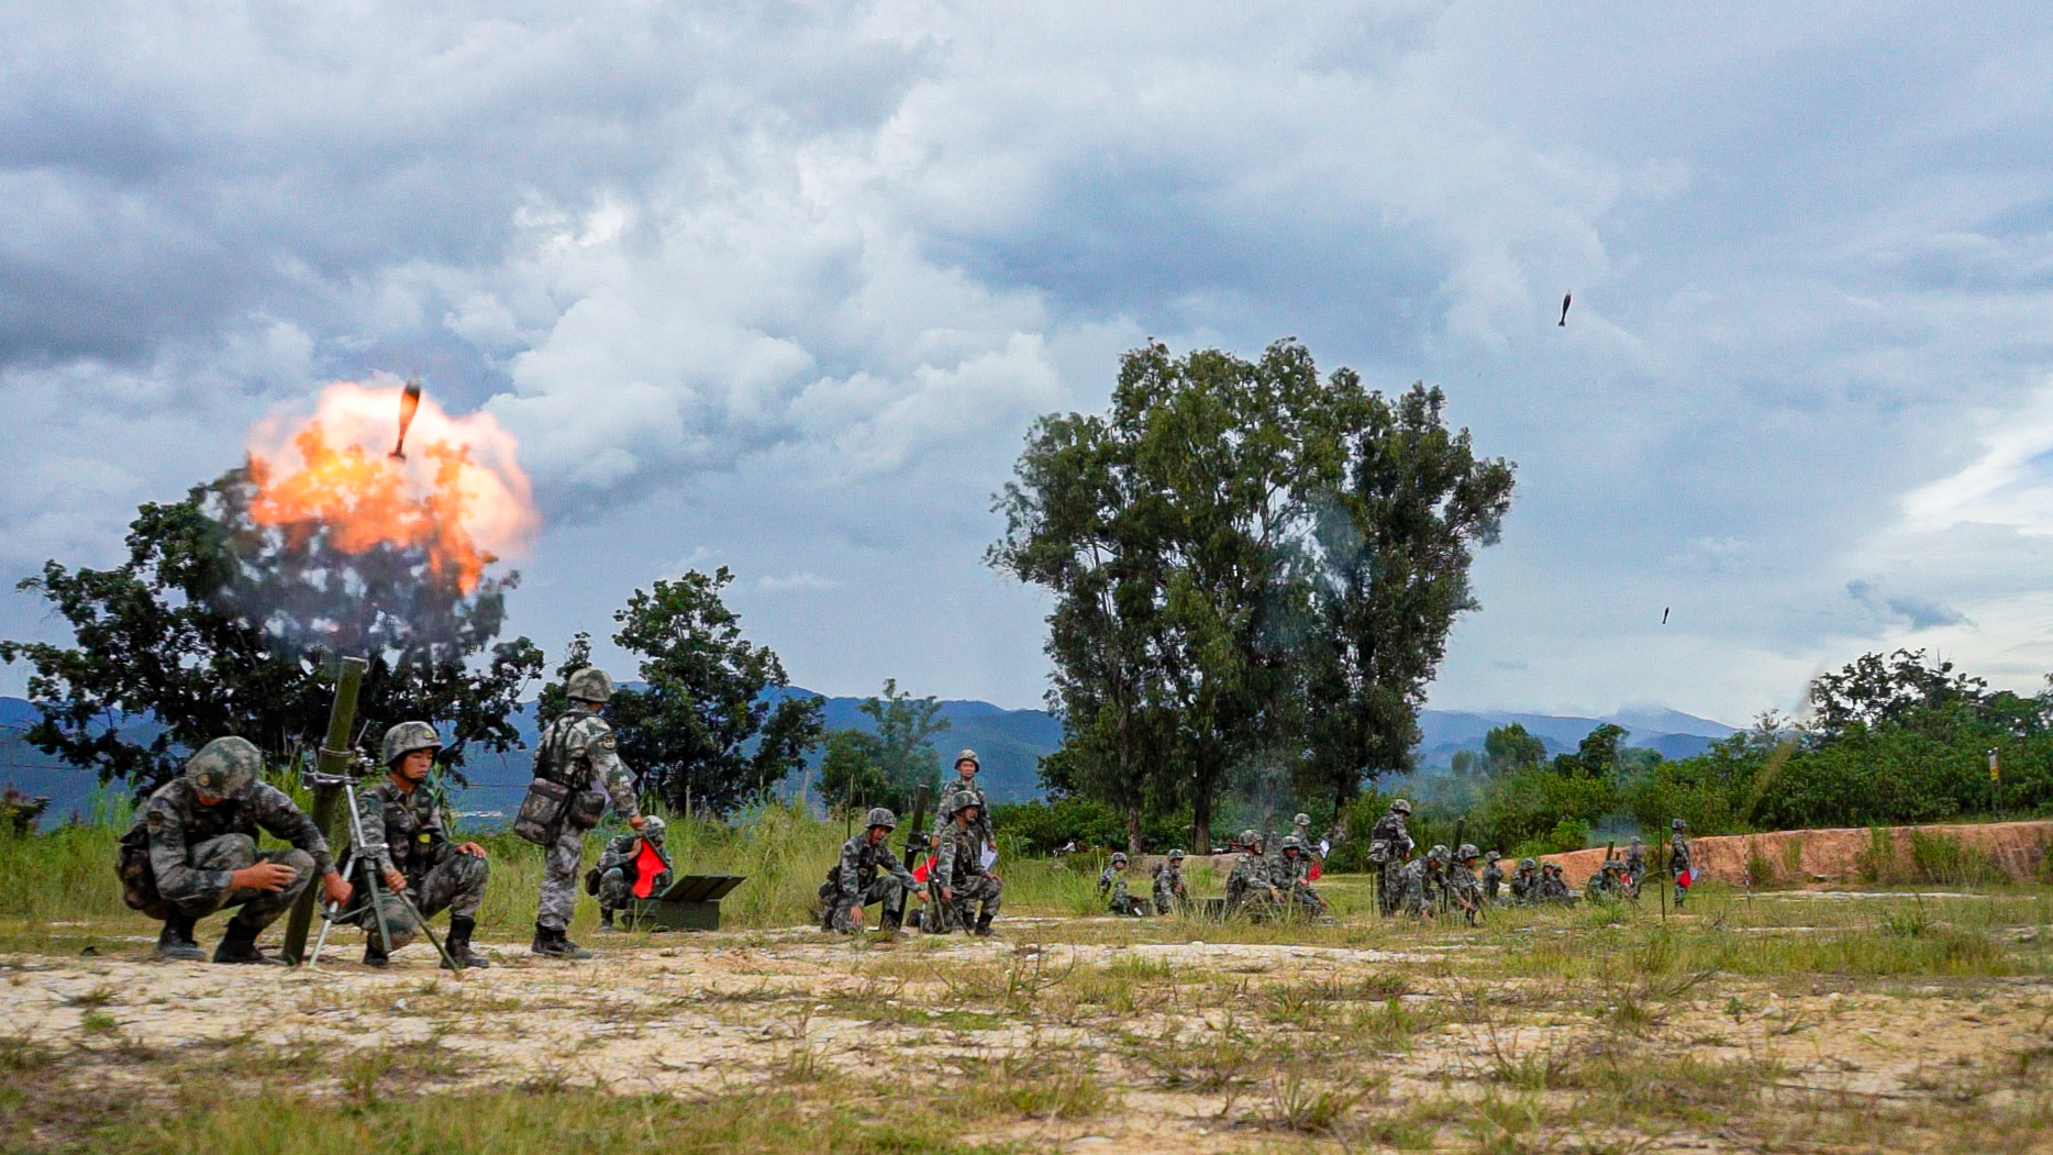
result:
[[[1690,839],[1690,858],[1702,878],[1735,886],[1747,882],[1749,864],[1753,864],[1753,882],[1764,886],[1907,882],[1920,876],[1913,833],[1928,839],[1926,845],[1936,847],[1942,855],[1948,847],[1938,839],[1952,841],[1965,851],[1963,866],[1987,864],[2018,880],[2037,878],[2045,866],[2047,847],[2053,845],[2053,823],[1854,827]],[[1883,845],[1887,845],[1887,853]],[[1657,849],[1661,847],[1647,847],[1649,868],[1655,864]],[[1568,884],[1581,886],[1603,862],[1603,847],[1550,853],[1544,862],[1560,864]],[[1511,874],[1517,860],[1505,860],[1503,866],[1505,874]]]

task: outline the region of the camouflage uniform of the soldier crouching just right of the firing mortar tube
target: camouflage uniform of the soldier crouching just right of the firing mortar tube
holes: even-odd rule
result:
[[[443,909],[450,923],[474,919],[485,903],[485,880],[491,864],[482,858],[460,853],[450,841],[448,821],[441,810],[439,792],[429,786],[400,790],[390,778],[357,794],[357,823],[363,827],[363,845],[351,847],[357,862],[380,872],[396,870],[406,876],[406,899],[431,919]],[[384,890],[380,878],[380,907],[384,907],[386,931],[392,948],[398,950],[421,931],[413,913],[396,897]],[[365,909],[357,925],[378,935],[378,917]],[[376,954],[376,952],[374,952]]]

